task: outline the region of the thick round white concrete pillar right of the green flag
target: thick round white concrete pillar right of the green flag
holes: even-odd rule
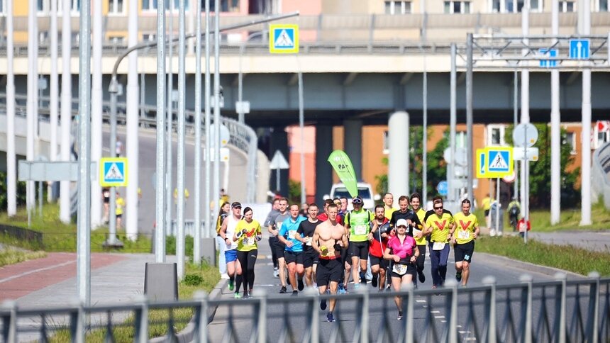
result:
[[[390,113],[388,130],[387,184],[388,191],[397,199],[409,195],[409,113]]]

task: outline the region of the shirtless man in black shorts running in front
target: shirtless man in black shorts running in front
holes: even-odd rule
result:
[[[327,211],[328,220],[316,227],[314,237],[311,240],[311,246],[319,254],[316,274],[318,292],[323,295],[326,293],[326,289],[330,289],[331,294],[336,295],[338,283],[341,280],[343,272],[340,250],[347,249],[349,243],[348,237],[345,235],[345,227],[337,223],[337,206],[335,204],[329,205]],[[336,321],[333,315],[336,302],[336,298],[329,300],[330,307],[326,314],[327,322]],[[320,308],[321,310],[326,310],[326,300],[320,301]]]

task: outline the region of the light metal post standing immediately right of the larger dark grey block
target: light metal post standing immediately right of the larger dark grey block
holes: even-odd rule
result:
[[[178,1],[178,152],[176,156],[177,163],[177,182],[176,186],[178,189],[177,194],[177,206],[176,206],[176,221],[177,221],[177,232],[176,232],[176,259],[177,259],[177,274],[178,279],[182,280],[184,277],[184,111],[186,103],[185,91],[186,91],[186,73],[184,70],[185,64],[185,39],[186,35],[184,27],[185,21],[185,9],[184,1]]]

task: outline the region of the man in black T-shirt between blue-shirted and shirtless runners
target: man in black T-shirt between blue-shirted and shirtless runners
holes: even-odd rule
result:
[[[295,238],[301,241],[305,246],[303,257],[305,283],[308,287],[311,287],[314,286],[314,280],[316,280],[316,268],[318,266],[318,257],[320,256],[318,252],[314,250],[314,247],[311,246],[311,239],[314,237],[316,227],[323,222],[318,219],[318,204],[310,203],[307,212],[307,220],[303,220],[301,224],[299,224],[299,228],[296,229],[296,232],[298,232],[299,235],[296,235]]]

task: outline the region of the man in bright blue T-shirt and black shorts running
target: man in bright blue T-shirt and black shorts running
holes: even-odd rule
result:
[[[299,291],[303,291],[303,274],[305,269],[303,268],[303,244],[301,244],[300,240],[296,239],[296,235],[299,233],[296,230],[299,229],[299,225],[302,221],[306,220],[305,217],[301,217],[299,215],[299,204],[293,203],[290,206],[290,217],[287,220],[284,220],[282,223],[282,228],[279,229],[279,235],[277,238],[279,242],[282,242],[286,245],[284,250],[284,260],[288,266],[288,279],[290,281],[290,286],[292,286],[292,295],[296,296]],[[299,291],[296,291],[296,275],[299,276]],[[286,293],[285,287],[283,288]]]

